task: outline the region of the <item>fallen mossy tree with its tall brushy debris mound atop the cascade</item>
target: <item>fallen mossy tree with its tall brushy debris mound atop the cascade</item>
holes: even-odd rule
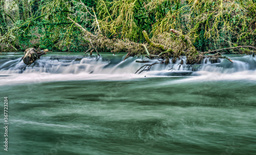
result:
[[[88,10],[87,10],[88,11]],[[89,12],[89,11],[88,11]],[[90,13],[90,12],[89,12]],[[70,17],[67,17],[71,20],[82,32],[84,37],[88,40],[89,49],[86,51],[87,54],[91,49],[90,54],[92,55],[92,51],[96,51],[99,55],[97,49],[109,49],[113,53],[117,53],[120,51],[127,52],[126,57],[145,55],[148,59],[162,59],[165,64],[168,64],[169,59],[172,59],[172,62],[175,63],[177,59],[180,59],[181,56],[187,57],[186,64],[200,64],[204,58],[209,58],[211,63],[218,62],[219,59],[227,59],[231,63],[233,62],[226,56],[222,56],[218,51],[221,50],[229,50],[234,48],[252,48],[256,49],[253,46],[238,46],[238,47],[229,47],[223,49],[216,49],[208,52],[197,51],[196,47],[193,45],[193,42],[189,38],[189,35],[184,35],[182,32],[179,32],[174,29],[170,29],[169,32],[164,32],[162,35],[155,36],[150,39],[148,37],[146,31],[142,31],[142,34],[146,40],[145,44],[132,42],[128,39],[109,39],[102,35],[100,31],[99,23],[97,22],[96,15],[92,15],[96,20],[98,33],[92,34],[91,32],[84,29],[80,24],[75,22]],[[212,55],[214,54],[214,55]],[[136,61],[138,63],[146,63],[147,60]]]

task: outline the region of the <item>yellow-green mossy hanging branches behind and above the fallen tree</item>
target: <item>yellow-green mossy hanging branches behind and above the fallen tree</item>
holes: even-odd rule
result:
[[[255,45],[255,6],[252,0],[100,0],[98,13],[105,35],[139,41],[142,30],[157,38],[175,29],[206,51],[232,43]]]

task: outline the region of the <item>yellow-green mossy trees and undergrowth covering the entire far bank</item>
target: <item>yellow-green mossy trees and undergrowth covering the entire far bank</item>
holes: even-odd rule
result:
[[[207,52],[256,46],[255,0],[1,0],[1,51],[29,47],[86,51],[89,38],[100,51],[163,58],[184,55],[198,63]],[[86,31],[68,19],[70,17]],[[148,39],[157,44],[152,45]],[[164,48],[163,48],[163,47]],[[250,54],[249,48],[229,53]],[[164,53],[163,53],[164,52]]]

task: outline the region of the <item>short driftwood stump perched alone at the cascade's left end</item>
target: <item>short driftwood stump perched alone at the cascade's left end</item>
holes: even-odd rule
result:
[[[22,57],[23,62],[27,65],[32,64],[34,61],[39,59],[42,55],[46,55],[46,53],[49,52],[49,50],[41,50],[36,51],[35,48],[28,48],[24,52],[24,57]]]

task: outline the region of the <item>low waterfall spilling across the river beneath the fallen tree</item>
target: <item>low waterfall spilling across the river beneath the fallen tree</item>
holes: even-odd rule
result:
[[[212,63],[210,59],[203,59],[202,64],[189,65],[186,64],[186,58],[177,59],[176,63],[169,60],[169,64],[165,65],[160,60],[150,60],[148,63],[137,63],[136,60],[145,60],[143,56],[130,57],[123,61],[125,56],[109,56],[109,57],[84,57],[84,56],[44,56],[35,61],[31,65],[26,65],[20,58],[1,59],[0,75],[20,74],[24,76],[33,74],[36,76],[56,75],[63,77],[69,74],[72,78],[92,77],[93,75],[108,76],[127,76],[142,77],[148,76],[195,76],[202,74],[232,74],[239,72],[250,72],[254,74],[256,69],[256,58],[252,56],[236,56],[232,57],[233,63],[226,59],[218,60]],[[77,59],[76,59],[77,58]],[[216,61],[216,60],[215,60]],[[140,74],[135,72],[145,64],[153,64],[150,70],[142,71]],[[147,66],[146,66],[147,67]],[[253,72],[253,73],[251,73]],[[79,76],[77,76],[79,74]],[[243,73],[244,74],[244,73]],[[5,77],[7,78],[7,77]],[[32,77],[31,77],[32,78]],[[40,77],[42,78],[42,77]],[[92,77],[93,78],[93,77]],[[62,79],[65,79],[64,77]]]

